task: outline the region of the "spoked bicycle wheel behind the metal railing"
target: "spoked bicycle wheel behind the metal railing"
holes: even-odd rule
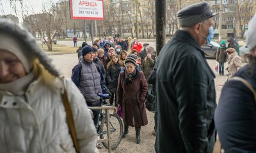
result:
[[[122,135],[124,131],[123,122],[120,117],[116,114],[109,114],[109,129],[110,129],[110,138],[111,138],[111,149],[116,149],[119,143],[122,140]],[[102,119],[100,123],[100,138],[108,138],[108,129],[107,129],[107,117]],[[108,142],[102,142],[102,145],[108,149]]]

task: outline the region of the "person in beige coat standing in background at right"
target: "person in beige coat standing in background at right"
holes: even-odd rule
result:
[[[243,66],[243,64],[234,48],[227,48],[226,51],[228,55],[228,78],[230,78]]]

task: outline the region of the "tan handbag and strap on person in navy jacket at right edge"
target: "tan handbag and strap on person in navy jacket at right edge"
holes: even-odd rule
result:
[[[232,77],[230,78],[230,80],[237,80],[242,82],[246,87],[248,87],[248,89],[250,89],[250,91],[252,91],[253,95],[254,95],[254,101],[256,102],[256,92],[252,87],[252,84],[250,84],[250,82],[246,81],[244,78],[241,77]],[[221,149],[221,142],[220,139],[216,140],[215,144],[214,144],[214,148],[213,148],[213,152],[212,153],[222,153],[224,152],[223,149]]]

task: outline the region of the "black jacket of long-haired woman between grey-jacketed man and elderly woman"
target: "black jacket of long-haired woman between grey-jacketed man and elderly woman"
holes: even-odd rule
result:
[[[118,77],[121,71],[120,64],[114,64],[113,66],[109,66],[107,71],[107,79],[108,79],[108,89],[109,92],[114,93],[116,92],[117,84],[118,84]]]

